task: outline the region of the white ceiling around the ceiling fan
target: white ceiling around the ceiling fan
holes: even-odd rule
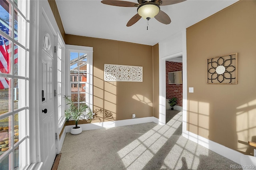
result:
[[[137,3],[136,0],[127,1]],[[100,0],[56,0],[56,4],[66,34],[155,45],[237,1],[187,0],[160,6],[172,22],[165,25],[152,18],[148,30],[143,18],[126,26],[137,13],[136,7],[110,6]]]

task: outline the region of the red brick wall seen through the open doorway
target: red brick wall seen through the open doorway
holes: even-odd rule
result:
[[[168,73],[182,71],[182,63],[166,61],[166,99],[177,98],[177,106],[182,106],[182,84],[168,84]]]

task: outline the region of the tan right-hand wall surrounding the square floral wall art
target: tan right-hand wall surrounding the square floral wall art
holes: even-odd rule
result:
[[[206,59],[238,52],[238,84],[206,84]],[[242,0],[187,28],[187,130],[244,154],[256,142],[256,1]]]

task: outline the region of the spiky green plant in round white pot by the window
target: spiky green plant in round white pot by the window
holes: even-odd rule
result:
[[[78,104],[74,103],[70,98],[68,98],[69,96],[65,96],[66,99],[66,104],[69,105],[68,110],[65,110],[65,116],[66,116],[66,120],[74,120],[76,123],[76,126],[71,128],[70,133],[71,134],[80,134],[82,132],[82,128],[80,126],[78,126],[78,121],[80,119],[86,119],[91,121],[93,118],[93,113],[92,110],[90,109],[90,107],[85,104]]]

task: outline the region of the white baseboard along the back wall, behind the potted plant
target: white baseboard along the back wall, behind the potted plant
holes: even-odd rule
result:
[[[155,118],[155,117],[133,118],[133,119],[126,119],[126,120],[116,120],[111,122],[79,124],[79,126],[82,127],[82,130],[94,130],[94,129],[100,129],[100,128],[113,128],[118,126],[126,126],[126,125],[148,123],[148,122],[157,123],[158,118]],[[74,125],[66,126],[66,133],[70,132],[72,127],[74,127]]]

